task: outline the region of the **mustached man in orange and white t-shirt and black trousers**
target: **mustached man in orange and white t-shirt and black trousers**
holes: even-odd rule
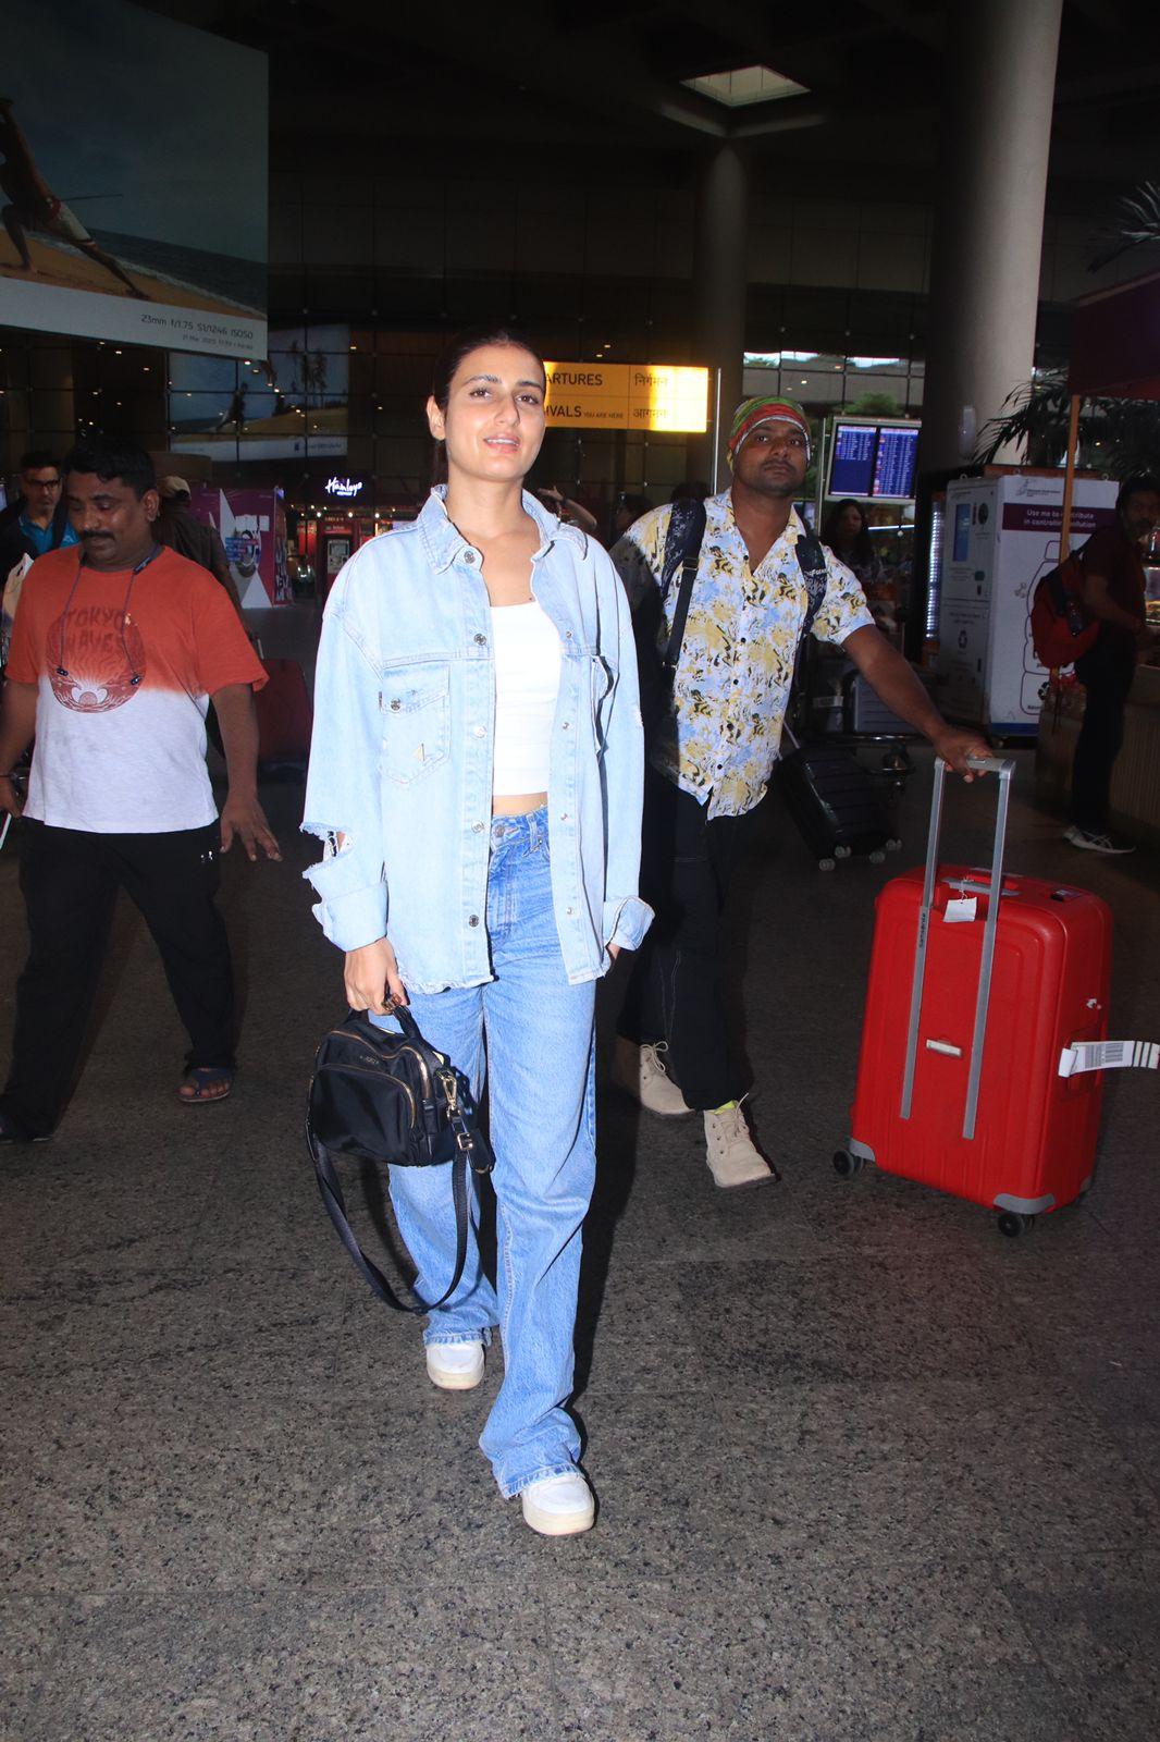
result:
[[[153,463],[82,441],[66,462],[78,544],[33,563],[12,625],[0,714],[0,810],[35,737],[21,840],[30,953],[16,988],[0,1143],[52,1134],[80,1059],[117,890],[160,949],[190,1035],[179,1097],[233,1082],[233,981],[214,904],[218,855],[279,847],[258,803],[253,692],[265,671],[218,582],[157,544]],[[218,810],[206,768],[212,697],[230,777]]]

